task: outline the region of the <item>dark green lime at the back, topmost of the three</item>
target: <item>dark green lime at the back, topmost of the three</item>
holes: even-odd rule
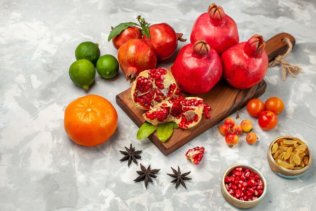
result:
[[[99,45],[90,41],[79,44],[75,51],[76,59],[86,59],[96,64],[97,59],[100,57]]]

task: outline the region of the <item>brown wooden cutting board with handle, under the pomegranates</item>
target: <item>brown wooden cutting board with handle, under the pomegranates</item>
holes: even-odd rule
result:
[[[277,34],[266,42],[265,50],[268,54],[269,61],[286,52],[288,46],[282,41],[285,37],[291,40],[294,47],[295,38],[292,35],[288,33]],[[212,107],[212,110],[209,112],[210,118],[206,119],[202,117],[201,121],[193,128],[174,130],[173,135],[165,143],[159,141],[156,132],[151,134],[148,138],[164,155],[169,155],[198,135],[212,128],[212,126],[227,116],[243,108],[249,100],[258,98],[264,94],[266,88],[267,84],[264,80],[246,90],[233,88],[225,80],[220,80],[217,85],[207,93],[199,95],[181,93],[184,97],[197,96],[202,98],[204,103]],[[131,89],[118,94],[116,96],[116,102],[138,127],[144,123],[142,114],[145,113],[145,111],[134,106],[131,99]]]

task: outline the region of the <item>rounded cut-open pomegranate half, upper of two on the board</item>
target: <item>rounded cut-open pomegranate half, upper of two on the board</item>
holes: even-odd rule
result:
[[[171,72],[165,68],[157,68],[145,70],[138,75],[132,84],[131,95],[134,105],[143,110],[150,110],[162,101],[168,101],[176,90],[177,84]],[[169,114],[167,108],[161,112]],[[160,116],[159,120],[164,119]]]

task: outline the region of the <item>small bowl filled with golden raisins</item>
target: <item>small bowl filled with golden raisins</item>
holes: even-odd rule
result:
[[[311,164],[311,153],[305,142],[291,136],[273,140],[268,149],[272,171],[284,178],[302,176]]]

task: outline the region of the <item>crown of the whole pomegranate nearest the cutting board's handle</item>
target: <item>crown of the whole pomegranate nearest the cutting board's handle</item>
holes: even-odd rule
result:
[[[265,46],[266,42],[264,41],[264,37],[255,34],[248,39],[244,46],[244,51],[250,57],[261,57],[265,51]]]

